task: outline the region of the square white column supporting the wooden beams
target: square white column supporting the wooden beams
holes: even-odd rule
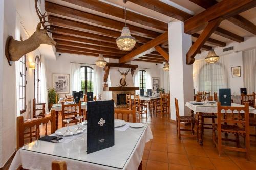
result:
[[[173,21],[168,24],[169,63],[170,63],[170,112],[171,119],[176,120],[175,101],[179,101],[180,115],[189,115],[190,110],[185,106],[193,100],[193,68],[186,65],[186,53],[189,50],[191,35],[184,33],[184,24]]]

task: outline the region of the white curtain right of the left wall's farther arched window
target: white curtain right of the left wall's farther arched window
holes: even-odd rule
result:
[[[48,110],[48,93],[47,93],[47,68],[46,68],[46,60],[45,57],[41,57],[41,102],[46,104],[46,114],[49,114]]]

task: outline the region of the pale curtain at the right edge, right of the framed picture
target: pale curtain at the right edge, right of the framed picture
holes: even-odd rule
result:
[[[247,93],[256,92],[256,49],[243,52],[244,87]]]

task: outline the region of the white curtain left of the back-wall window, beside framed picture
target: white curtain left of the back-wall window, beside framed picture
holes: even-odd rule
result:
[[[72,91],[81,91],[81,64],[70,63],[71,64],[71,92]],[[70,92],[70,93],[71,93]]]

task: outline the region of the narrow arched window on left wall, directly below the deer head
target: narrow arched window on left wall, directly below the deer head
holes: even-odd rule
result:
[[[26,112],[26,56],[20,58],[20,77],[19,77],[19,108],[20,114]]]

